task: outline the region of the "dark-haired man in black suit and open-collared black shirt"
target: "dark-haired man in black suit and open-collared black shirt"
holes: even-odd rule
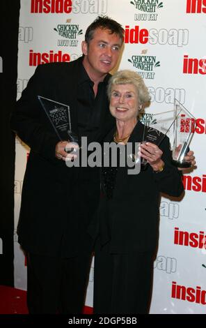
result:
[[[93,247],[86,230],[100,197],[99,169],[65,165],[68,140],[58,140],[38,96],[70,106],[79,140],[102,142],[113,126],[106,85],[122,43],[120,24],[97,17],[82,43],[84,56],[38,66],[11,118],[31,147],[17,228],[27,255],[29,313],[81,313]]]

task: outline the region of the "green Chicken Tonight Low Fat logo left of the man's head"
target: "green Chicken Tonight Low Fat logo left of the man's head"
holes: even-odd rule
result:
[[[68,19],[65,24],[58,24],[54,28],[58,36],[62,37],[62,39],[57,40],[58,47],[77,47],[79,42],[77,38],[83,34],[83,31],[79,29],[79,24],[71,24],[71,21]]]

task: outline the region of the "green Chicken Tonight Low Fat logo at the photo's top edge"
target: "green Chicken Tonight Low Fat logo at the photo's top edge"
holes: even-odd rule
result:
[[[134,20],[157,20],[156,11],[163,8],[163,3],[159,0],[133,0],[130,3],[136,10],[141,11],[141,13],[135,13]]]

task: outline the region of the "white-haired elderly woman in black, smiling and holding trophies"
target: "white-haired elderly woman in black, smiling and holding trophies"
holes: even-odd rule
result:
[[[144,126],[138,112],[150,100],[140,75],[122,70],[108,86],[116,127],[105,142],[141,142]],[[160,193],[180,196],[181,172],[171,165],[168,137],[157,147],[147,142],[139,155],[146,170],[102,167],[102,197],[97,221],[90,227],[95,244],[95,313],[148,313],[154,253],[158,241]]]

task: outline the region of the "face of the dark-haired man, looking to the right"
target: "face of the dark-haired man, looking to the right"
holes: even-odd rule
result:
[[[108,29],[96,29],[89,45],[83,41],[84,67],[88,75],[104,75],[112,70],[120,56],[121,40]]]

